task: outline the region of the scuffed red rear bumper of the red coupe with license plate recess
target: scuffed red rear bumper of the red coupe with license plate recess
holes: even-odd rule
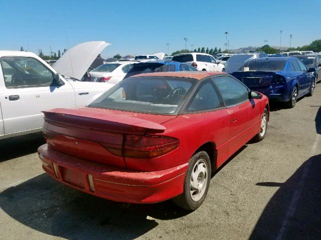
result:
[[[43,169],[56,180],[102,198],[132,203],[159,202],[181,194],[188,168],[184,163],[159,171],[131,171],[73,157],[47,144],[38,148],[38,154]]]

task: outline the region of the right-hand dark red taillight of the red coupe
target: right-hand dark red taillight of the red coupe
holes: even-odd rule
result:
[[[180,142],[168,136],[124,135],[123,149],[106,147],[115,155],[133,158],[151,158],[164,155],[176,149]]]

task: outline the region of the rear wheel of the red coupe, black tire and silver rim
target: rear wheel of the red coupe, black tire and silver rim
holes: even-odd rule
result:
[[[184,192],[173,198],[176,205],[197,209],[204,201],[211,179],[211,161],[206,151],[199,151],[189,160],[184,179]]]

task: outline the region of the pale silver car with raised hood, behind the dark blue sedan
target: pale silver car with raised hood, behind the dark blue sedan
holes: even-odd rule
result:
[[[265,52],[254,52],[254,53],[232,55],[225,63],[225,71],[228,73],[238,71],[242,68],[246,60],[250,58],[261,58],[261,57],[268,57],[268,55]]]

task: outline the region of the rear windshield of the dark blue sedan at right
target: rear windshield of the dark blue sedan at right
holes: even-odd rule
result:
[[[249,71],[281,71],[284,69],[285,63],[286,60],[260,60],[258,58],[246,61],[242,70],[244,67],[248,67]]]

